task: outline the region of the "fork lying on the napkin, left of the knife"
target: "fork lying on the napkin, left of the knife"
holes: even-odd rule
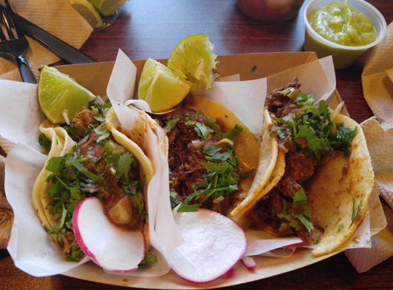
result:
[[[27,41],[25,34],[23,34],[21,27],[19,27],[19,25],[14,21],[14,12],[12,11],[8,0],[5,0],[5,5],[7,6],[8,13],[1,10],[0,19],[5,26],[8,38],[5,36],[0,27],[0,55],[5,54],[5,56],[12,56],[16,61],[16,65],[18,65],[23,82],[36,84],[36,76],[34,76],[33,71],[24,56],[25,51],[29,48],[29,42]],[[14,36],[11,27],[14,27],[16,35],[18,36],[17,38]]]

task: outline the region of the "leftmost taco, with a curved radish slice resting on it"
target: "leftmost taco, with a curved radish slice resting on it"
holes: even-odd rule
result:
[[[154,174],[152,162],[121,128],[110,103],[84,109],[69,126],[45,121],[40,132],[40,144],[47,145],[49,154],[34,184],[34,208],[67,260],[84,257],[71,221],[78,203],[92,196],[102,201],[105,215],[116,227],[143,232],[147,252],[147,185]]]

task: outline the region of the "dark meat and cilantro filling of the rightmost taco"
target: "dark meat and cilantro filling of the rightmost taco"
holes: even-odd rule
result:
[[[333,124],[326,102],[317,104],[312,95],[301,93],[298,78],[272,91],[267,101],[272,118],[268,130],[285,152],[285,173],[250,211],[252,224],[281,236],[304,236],[310,244],[318,244],[325,229],[313,223],[307,182],[330,159],[343,160],[340,174],[346,179],[357,127]]]

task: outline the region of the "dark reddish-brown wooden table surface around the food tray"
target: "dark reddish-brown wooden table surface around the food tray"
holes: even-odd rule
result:
[[[306,0],[305,3],[308,3]],[[369,0],[389,24],[393,1]],[[91,34],[82,51],[96,60],[113,61],[118,49],[131,59],[168,58],[185,36],[208,34],[215,54],[301,52],[305,25],[302,10],[285,23],[259,23],[242,14],[234,0],[131,0],[119,19]],[[372,116],[361,89],[365,56],[353,67],[336,71],[337,91],[351,117],[362,122]],[[53,276],[34,278],[14,267],[5,249],[0,250],[0,289],[114,289],[110,285]],[[393,258],[364,274],[357,274],[341,253],[287,274],[226,289],[393,289]]]

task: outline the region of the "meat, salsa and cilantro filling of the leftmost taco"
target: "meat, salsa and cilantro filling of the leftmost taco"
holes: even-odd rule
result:
[[[45,228],[67,253],[67,260],[79,261],[84,257],[75,240],[72,215],[75,206],[86,197],[95,196],[102,201],[106,216],[117,227],[125,230],[143,230],[144,227],[145,177],[140,175],[139,161],[106,128],[109,109],[110,103],[94,104],[91,109],[75,115],[70,126],[64,127],[74,146],[71,152],[49,159],[45,182],[41,182],[39,192],[34,192],[35,199],[40,195],[43,201],[48,221]],[[45,130],[41,131],[45,133]],[[40,144],[53,148],[46,135],[40,135]],[[42,217],[43,213],[37,212]]]

